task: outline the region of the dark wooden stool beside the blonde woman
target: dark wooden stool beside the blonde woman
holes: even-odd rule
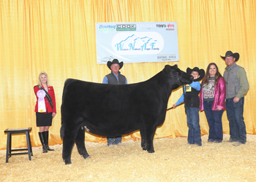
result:
[[[18,154],[29,154],[29,160],[31,160],[31,156],[33,156],[33,153],[32,153],[31,141],[29,136],[30,131],[31,131],[31,127],[4,130],[4,133],[7,132],[6,162],[8,162],[9,157],[12,157],[12,155],[18,155]],[[12,149],[12,134],[15,134],[15,133],[26,133],[26,144],[28,147],[27,149]],[[28,152],[12,153],[12,151],[25,151],[25,150],[28,150]]]

